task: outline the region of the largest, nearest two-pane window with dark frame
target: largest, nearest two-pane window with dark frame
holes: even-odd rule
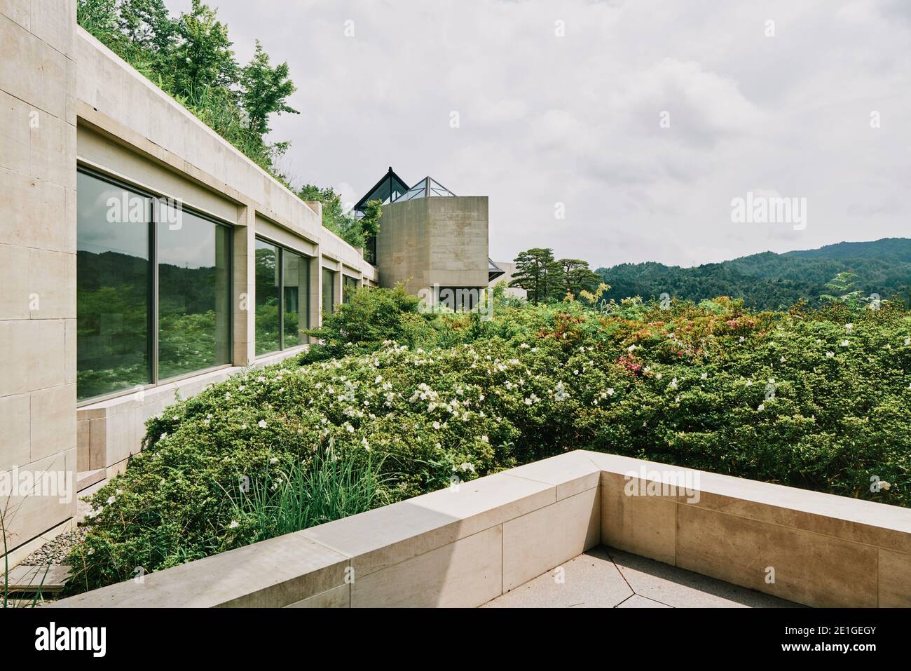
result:
[[[79,400],[229,364],[230,305],[230,228],[78,172]]]

